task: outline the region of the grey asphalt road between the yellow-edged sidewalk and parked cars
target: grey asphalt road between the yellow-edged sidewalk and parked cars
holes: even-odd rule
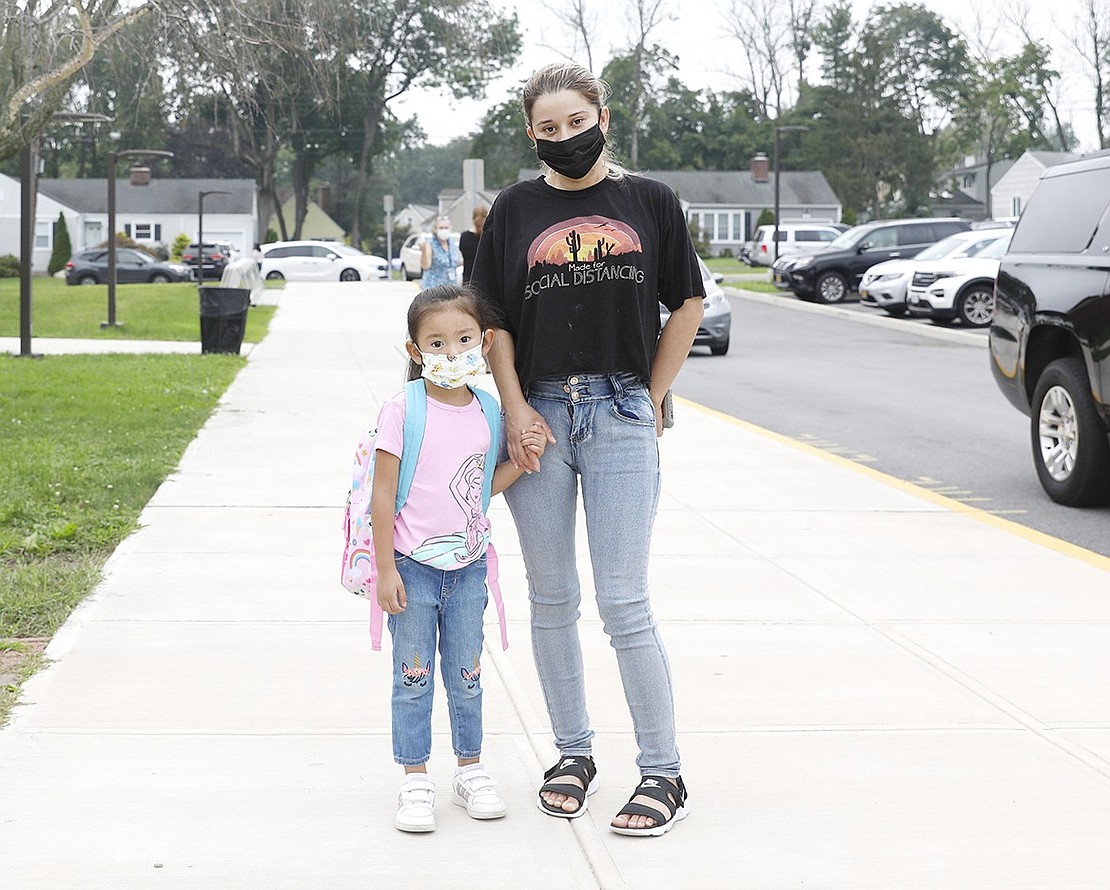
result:
[[[1037,482],[985,332],[763,300],[729,292],[728,355],[695,348],[677,395],[1110,556],[1110,507],[1062,507]]]

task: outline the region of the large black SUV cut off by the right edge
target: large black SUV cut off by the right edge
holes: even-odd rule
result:
[[[1110,153],[1050,168],[1002,257],[990,368],[1049,497],[1110,502]]]

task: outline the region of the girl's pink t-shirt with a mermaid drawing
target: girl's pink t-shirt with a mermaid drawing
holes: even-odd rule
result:
[[[404,422],[402,392],[377,415],[377,451],[401,457]],[[398,553],[442,569],[462,568],[485,553],[490,520],[482,509],[482,479],[488,451],[490,425],[477,398],[463,407],[427,400],[416,473],[393,526]]]

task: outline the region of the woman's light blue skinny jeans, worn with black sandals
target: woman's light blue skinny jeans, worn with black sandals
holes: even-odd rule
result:
[[[589,755],[574,555],[578,484],[586,512],[597,606],[616,650],[642,775],[677,776],[670,666],[647,593],[652,526],[659,499],[659,447],[647,386],[632,374],[534,381],[528,403],[556,444],[539,473],[505,490],[521,538],[532,603],[532,651],[555,745]]]

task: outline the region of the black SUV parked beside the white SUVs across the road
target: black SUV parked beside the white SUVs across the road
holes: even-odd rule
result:
[[[864,273],[886,260],[916,256],[930,244],[971,226],[963,220],[876,220],[856,225],[821,251],[791,257],[775,284],[803,300],[839,303],[859,287]]]

